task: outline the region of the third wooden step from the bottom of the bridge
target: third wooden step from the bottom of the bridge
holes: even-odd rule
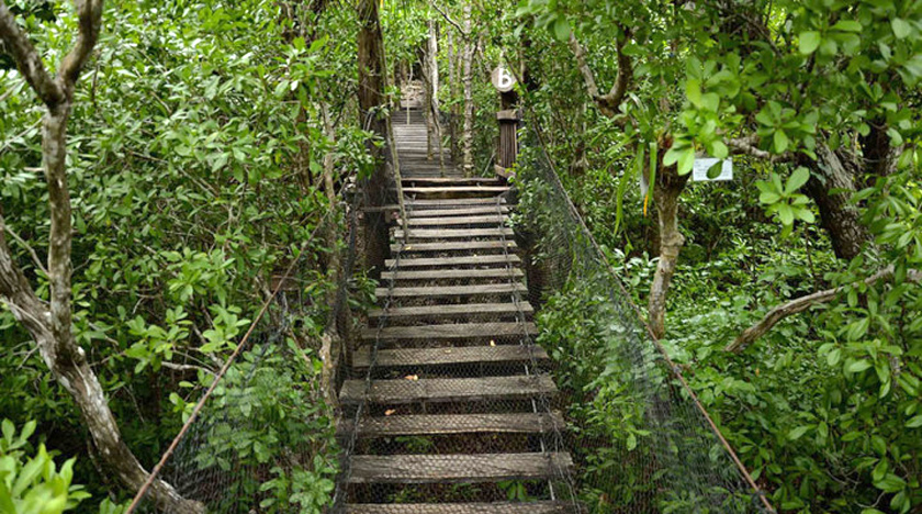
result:
[[[352,432],[353,420],[340,423],[338,432]],[[417,414],[363,417],[359,436],[391,437],[401,435],[443,434],[540,434],[563,431],[566,424],[560,414],[516,412],[503,414]]]

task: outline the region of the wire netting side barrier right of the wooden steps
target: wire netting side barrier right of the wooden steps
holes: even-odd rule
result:
[[[599,513],[774,513],[592,237],[540,126],[528,126],[516,231],[539,342],[570,396],[581,500]]]

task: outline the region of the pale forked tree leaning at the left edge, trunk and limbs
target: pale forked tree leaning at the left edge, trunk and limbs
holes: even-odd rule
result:
[[[53,76],[5,2],[0,0],[0,40],[15,60],[19,71],[45,104],[42,119],[42,167],[47,181],[50,211],[45,269],[48,301],[38,297],[13,259],[5,241],[7,227],[2,212],[0,297],[32,335],[52,375],[74,399],[102,462],[123,485],[137,491],[147,480],[148,472],[122,438],[99,379],[87,361],[86,351],[77,344],[71,326],[72,227],[66,168],[67,120],[80,71],[99,40],[103,1],[75,1],[74,5],[78,18],[77,38],[58,65],[57,74]],[[150,499],[170,512],[202,512],[201,504],[182,499],[170,484],[160,480],[155,481],[150,488]]]

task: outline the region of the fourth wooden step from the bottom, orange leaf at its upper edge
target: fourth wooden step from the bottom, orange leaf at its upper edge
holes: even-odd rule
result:
[[[556,393],[547,375],[419,380],[373,380],[366,395],[364,380],[347,380],[339,390],[339,401],[357,405],[372,403],[397,405],[420,402],[474,402],[526,400]]]

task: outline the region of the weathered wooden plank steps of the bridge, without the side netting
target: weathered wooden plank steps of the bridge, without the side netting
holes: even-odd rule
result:
[[[339,392],[359,413],[339,426],[353,449],[345,512],[575,513],[554,491],[573,462],[551,442],[563,421],[531,340],[508,187],[426,160],[411,115],[394,121],[407,220],[392,228],[379,308]],[[510,481],[527,483],[528,501],[508,501]]]

